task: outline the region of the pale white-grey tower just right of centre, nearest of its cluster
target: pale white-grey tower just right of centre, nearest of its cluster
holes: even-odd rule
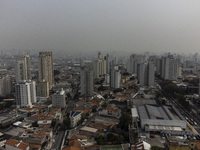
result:
[[[121,74],[118,66],[112,66],[110,69],[110,87],[120,88]]]

